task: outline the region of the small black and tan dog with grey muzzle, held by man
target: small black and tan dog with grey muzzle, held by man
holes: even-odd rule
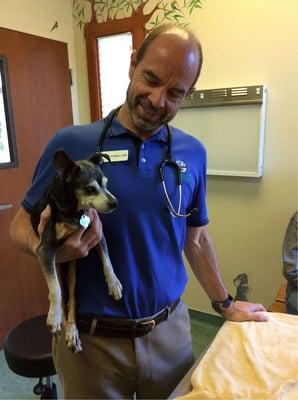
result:
[[[47,325],[53,334],[57,334],[65,322],[66,343],[75,353],[82,350],[75,322],[75,261],[67,263],[66,306],[62,300],[61,268],[56,269],[55,256],[58,247],[72,232],[79,227],[88,227],[90,219],[86,210],[95,208],[100,213],[109,213],[116,208],[117,200],[107,190],[107,178],[100,169],[104,158],[109,160],[106,154],[95,153],[88,160],[75,162],[62,149],[56,150],[53,164],[58,174],[31,213],[31,223],[38,235],[40,214],[48,205],[51,207],[50,220],[36,249],[49,288]],[[102,260],[109,294],[119,300],[122,297],[122,285],[114,273],[104,236],[96,250]]]

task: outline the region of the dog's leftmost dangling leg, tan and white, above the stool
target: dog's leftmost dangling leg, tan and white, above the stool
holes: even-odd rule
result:
[[[62,296],[56,271],[56,248],[54,246],[53,235],[53,224],[49,221],[45,226],[40,244],[36,249],[36,255],[49,289],[50,308],[47,325],[50,327],[52,333],[56,334],[60,332],[62,325]]]

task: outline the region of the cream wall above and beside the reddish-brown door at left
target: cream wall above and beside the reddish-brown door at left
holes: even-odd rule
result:
[[[0,26],[68,44],[74,122],[80,119],[71,0],[0,0]],[[58,22],[58,28],[51,28]]]

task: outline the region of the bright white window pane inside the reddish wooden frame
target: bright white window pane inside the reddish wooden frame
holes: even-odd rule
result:
[[[102,116],[120,106],[126,97],[132,52],[130,32],[97,38]]]

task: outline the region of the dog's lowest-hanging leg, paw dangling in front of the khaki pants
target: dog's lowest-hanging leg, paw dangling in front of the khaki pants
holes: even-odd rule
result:
[[[76,287],[76,262],[71,261],[68,263],[68,304],[67,316],[65,325],[65,339],[66,344],[74,353],[82,351],[81,341],[79,338],[79,331],[76,326],[76,301],[75,301],[75,287]]]

